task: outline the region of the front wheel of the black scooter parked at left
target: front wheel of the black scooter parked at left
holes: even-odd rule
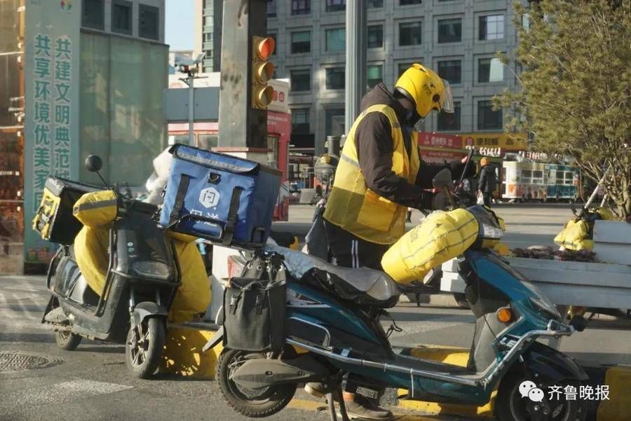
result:
[[[165,343],[162,319],[149,317],[138,326],[130,326],[125,346],[127,366],[138,378],[150,378],[158,369]]]

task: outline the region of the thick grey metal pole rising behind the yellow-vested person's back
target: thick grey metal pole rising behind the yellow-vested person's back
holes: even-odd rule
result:
[[[366,0],[346,0],[346,133],[361,111],[366,89],[367,38]]]

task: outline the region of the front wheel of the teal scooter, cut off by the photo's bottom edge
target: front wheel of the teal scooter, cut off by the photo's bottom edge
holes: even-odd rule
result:
[[[539,398],[536,396],[522,396],[522,392],[526,392],[526,389],[520,391],[520,385],[523,382],[529,382],[529,379],[524,375],[513,372],[509,373],[500,383],[497,392],[497,398],[495,402],[495,412],[498,421],[531,421],[531,420],[548,420],[548,421],[585,421],[587,417],[587,408],[585,403],[580,399],[569,400],[564,399],[564,394],[554,395],[554,399],[548,399],[548,386],[552,385],[536,385],[543,397],[548,403],[546,409],[547,414],[543,413],[541,417],[534,417],[531,415],[531,411],[534,411],[534,406],[538,406],[537,410],[543,411],[543,405],[536,402]],[[532,382],[530,382],[532,383]],[[560,382],[558,385],[560,390],[564,390],[566,387],[574,387],[574,390],[578,391],[580,385],[578,382]],[[535,401],[532,401],[534,398]],[[530,410],[529,410],[530,406]]]

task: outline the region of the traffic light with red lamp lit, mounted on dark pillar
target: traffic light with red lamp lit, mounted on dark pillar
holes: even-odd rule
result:
[[[269,62],[269,57],[275,47],[270,36],[252,38],[252,108],[267,109],[272,101],[274,89],[267,81],[274,74],[274,64]]]

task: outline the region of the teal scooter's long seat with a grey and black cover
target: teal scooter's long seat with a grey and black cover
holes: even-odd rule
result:
[[[269,248],[285,257],[290,275],[324,287],[339,298],[376,308],[391,308],[399,301],[399,288],[385,272],[370,268],[343,268],[300,251],[276,246]]]

